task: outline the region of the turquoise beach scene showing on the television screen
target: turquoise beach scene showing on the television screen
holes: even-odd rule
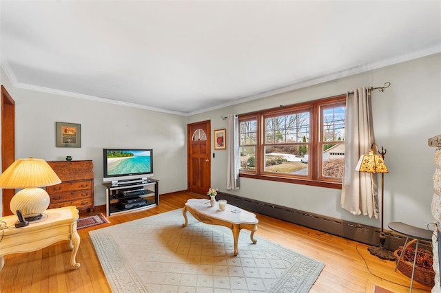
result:
[[[107,175],[151,172],[150,160],[150,151],[108,151]]]

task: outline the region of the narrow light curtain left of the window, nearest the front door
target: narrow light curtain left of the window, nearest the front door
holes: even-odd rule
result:
[[[228,114],[227,128],[227,191],[239,189],[239,118]]]

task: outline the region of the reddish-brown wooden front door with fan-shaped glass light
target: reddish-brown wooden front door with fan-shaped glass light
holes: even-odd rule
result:
[[[188,191],[206,195],[212,182],[212,151],[210,122],[187,125]]]

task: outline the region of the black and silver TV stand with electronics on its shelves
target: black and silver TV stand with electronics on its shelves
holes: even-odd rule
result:
[[[159,180],[152,178],[104,182],[107,216],[157,206],[159,204],[158,182]]]

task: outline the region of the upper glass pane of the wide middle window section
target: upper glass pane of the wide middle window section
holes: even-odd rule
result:
[[[265,118],[265,142],[306,142],[309,141],[309,129],[309,112]]]

